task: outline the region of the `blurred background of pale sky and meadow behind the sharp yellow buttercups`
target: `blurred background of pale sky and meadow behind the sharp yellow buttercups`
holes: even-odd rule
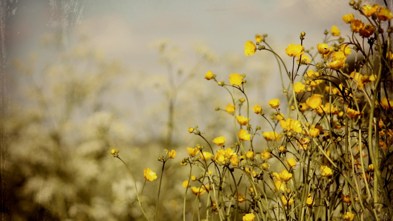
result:
[[[342,0],[0,2],[1,216],[14,221],[144,220],[112,148],[139,190],[143,169],[159,174],[163,149],[177,151],[165,169],[159,220],[182,219],[189,168],[180,161],[186,147],[206,145],[187,128],[198,125],[209,141],[235,137],[231,116],[215,111],[231,97],[206,72],[227,82],[231,73],[246,74],[250,107],[270,116],[267,101],[285,100],[276,60],[266,51],[245,56],[244,43],[268,34],[290,64],[284,49],[300,43],[301,31],[305,48],[315,48],[332,25],[350,35],[341,17],[354,13]],[[251,119],[271,130],[263,118]],[[262,136],[255,139],[257,152],[265,147]],[[145,189],[152,216],[158,180]],[[193,199],[187,193],[187,211]]]

